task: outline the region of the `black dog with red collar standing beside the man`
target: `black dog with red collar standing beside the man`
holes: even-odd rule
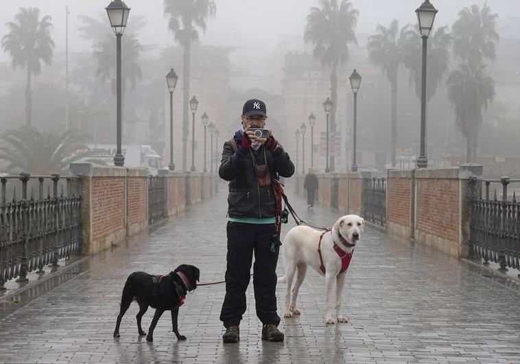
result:
[[[136,316],[137,330],[139,330],[139,335],[141,336],[146,335],[146,332],[141,328],[141,318],[148,306],[155,308],[155,315],[148,329],[146,341],[154,341],[154,329],[164,311],[172,311],[172,324],[177,339],[186,340],[184,335],[179,334],[177,317],[179,307],[184,303],[186,293],[197,288],[199,275],[199,269],[193,265],[179,265],[166,276],[152,276],[143,271],[135,271],[130,274],[123,288],[121,311],[119,311],[117,316],[114,337],[119,337],[121,319],[132,301],[136,300],[139,304],[139,313]]]

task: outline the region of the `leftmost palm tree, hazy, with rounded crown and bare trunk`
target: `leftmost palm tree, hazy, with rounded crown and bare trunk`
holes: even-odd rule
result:
[[[10,32],[3,36],[1,44],[4,51],[10,53],[11,64],[27,69],[27,87],[25,88],[25,112],[27,125],[32,123],[32,91],[31,75],[38,75],[41,71],[40,60],[49,65],[52,61],[54,41],[51,38],[50,16],[43,16],[40,20],[38,8],[20,8],[14,16],[14,22],[6,24]]]

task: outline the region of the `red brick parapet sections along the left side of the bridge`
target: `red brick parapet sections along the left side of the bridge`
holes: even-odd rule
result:
[[[84,254],[102,252],[148,228],[147,169],[72,163],[70,170],[73,175],[82,176]],[[203,196],[210,197],[211,184],[216,182],[211,175],[202,173],[161,171],[161,175],[168,178],[165,191],[168,216],[185,209],[186,181],[190,183],[192,204],[202,201]]]

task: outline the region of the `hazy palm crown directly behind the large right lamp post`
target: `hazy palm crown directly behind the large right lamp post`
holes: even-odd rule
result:
[[[440,27],[429,37],[427,43],[426,102],[434,97],[437,87],[448,72],[449,48],[452,38],[447,26]],[[418,25],[416,25],[414,30],[410,30],[410,36],[406,40],[403,58],[404,66],[410,71],[410,84],[415,85],[415,94],[418,99],[421,99],[421,72],[423,71],[420,39],[421,33],[418,31]]]

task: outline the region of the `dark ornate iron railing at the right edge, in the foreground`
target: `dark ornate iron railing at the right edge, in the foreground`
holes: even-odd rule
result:
[[[516,192],[508,199],[508,184],[520,182],[503,177],[500,180],[484,180],[484,197],[473,199],[471,206],[471,225],[469,244],[476,257],[499,264],[499,270],[508,267],[520,269],[520,203]],[[500,183],[502,198],[497,199],[495,190],[490,198],[491,183]]]

